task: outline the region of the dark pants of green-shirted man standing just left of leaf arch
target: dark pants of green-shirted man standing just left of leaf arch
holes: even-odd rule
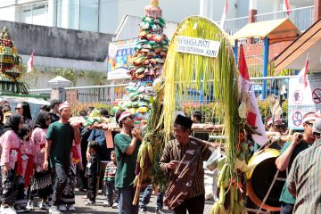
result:
[[[133,205],[135,189],[133,186],[119,188],[119,214],[136,214],[138,206]]]

